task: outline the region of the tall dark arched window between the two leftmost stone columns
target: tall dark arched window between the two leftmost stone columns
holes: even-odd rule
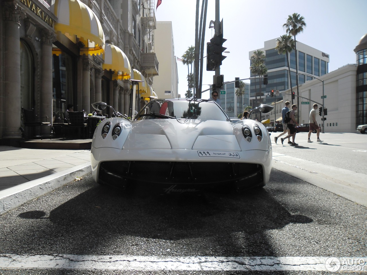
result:
[[[33,55],[25,41],[20,41],[21,58],[21,107],[34,108]]]

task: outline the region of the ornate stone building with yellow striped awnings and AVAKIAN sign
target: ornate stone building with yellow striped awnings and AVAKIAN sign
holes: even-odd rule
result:
[[[131,112],[133,69],[141,73],[135,91],[143,100],[153,95],[154,0],[0,0],[0,7],[1,141],[23,137],[22,107],[51,123],[63,121],[69,104],[90,113],[103,101]]]

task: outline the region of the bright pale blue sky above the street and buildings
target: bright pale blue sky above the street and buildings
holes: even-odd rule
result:
[[[172,22],[175,55],[178,57],[190,45],[195,45],[195,10],[196,0],[162,0],[156,10],[157,21]],[[223,19],[223,33],[227,39],[224,46],[230,51],[225,54],[227,58],[222,62],[221,74],[224,74],[225,81],[250,77],[248,52],[263,48],[264,41],[284,34],[283,24],[294,12],[305,17],[306,22],[304,32],[296,37],[297,41],[329,54],[329,72],[354,64],[356,55],[353,50],[367,33],[366,11],[366,0],[221,0],[220,19]],[[214,28],[208,28],[210,20],[214,19],[215,0],[208,0],[205,42],[214,35]],[[211,84],[214,72],[207,72],[205,64],[203,84]],[[177,66],[178,90],[184,96],[187,66],[180,62]],[[208,85],[203,85],[203,90],[207,88]],[[209,93],[203,93],[202,97],[209,98]]]

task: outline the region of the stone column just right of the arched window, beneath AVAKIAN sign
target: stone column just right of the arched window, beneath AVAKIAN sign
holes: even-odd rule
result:
[[[41,39],[41,121],[47,121],[52,124],[52,43],[56,40],[55,34],[50,30],[42,31]],[[41,127],[43,135],[47,136],[48,127]]]

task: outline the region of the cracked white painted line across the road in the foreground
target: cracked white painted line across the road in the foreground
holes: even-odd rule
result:
[[[155,257],[0,254],[1,269],[326,271],[328,257]],[[344,258],[344,257],[343,257]],[[353,258],[344,258],[353,259]],[[367,258],[361,258],[367,262]]]

